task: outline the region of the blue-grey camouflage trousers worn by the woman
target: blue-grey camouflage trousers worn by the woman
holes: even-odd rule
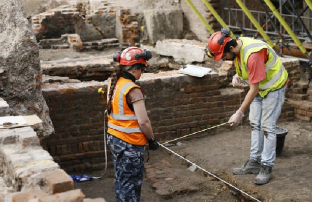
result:
[[[145,147],[131,145],[111,134],[107,136],[115,168],[116,202],[140,201]]]

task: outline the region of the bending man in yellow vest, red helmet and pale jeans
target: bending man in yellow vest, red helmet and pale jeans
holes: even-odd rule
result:
[[[230,126],[237,126],[250,107],[252,126],[250,157],[233,174],[258,174],[255,184],[266,184],[272,178],[276,157],[276,121],[285,100],[288,73],[275,51],[265,42],[248,37],[234,40],[230,31],[222,28],[208,40],[206,53],[214,60],[234,61],[236,74],[232,85],[249,86],[239,109],[231,116]]]

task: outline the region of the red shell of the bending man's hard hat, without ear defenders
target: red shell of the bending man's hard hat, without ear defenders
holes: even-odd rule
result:
[[[208,40],[208,56],[210,57],[209,53],[214,56],[215,61],[219,61],[223,56],[223,51],[225,45],[231,40],[231,37],[224,37],[223,43],[220,43],[219,39],[222,37],[221,32],[215,32],[213,33],[209,40]],[[212,57],[211,56],[211,57]]]

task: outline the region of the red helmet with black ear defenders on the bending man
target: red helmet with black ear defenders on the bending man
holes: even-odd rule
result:
[[[205,50],[208,57],[214,57],[215,61],[219,61],[223,56],[225,45],[230,40],[230,30],[227,28],[222,28],[221,32],[213,33],[208,40],[208,46]]]

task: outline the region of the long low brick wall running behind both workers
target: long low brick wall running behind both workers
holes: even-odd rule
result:
[[[291,82],[295,81],[299,66],[296,68],[295,60],[285,64],[291,70]],[[143,74],[139,85],[144,89],[146,109],[158,140],[164,142],[227,122],[239,108],[245,92],[225,88],[229,83],[224,77],[210,73],[198,78],[177,71]],[[55,162],[67,171],[96,170],[105,166],[103,113],[106,100],[97,92],[103,85],[107,88],[107,81],[51,83],[43,89],[55,128],[55,134],[48,140],[48,150]],[[291,91],[291,83],[289,86]],[[280,119],[293,119],[292,105],[286,103],[282,111]],[[209,134],[226,129],[230,127],[222,126],[210,130]]]

